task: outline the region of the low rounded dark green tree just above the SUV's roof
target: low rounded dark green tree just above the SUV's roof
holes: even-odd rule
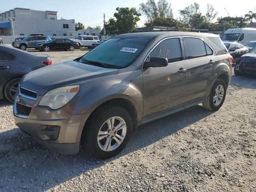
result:
[[[146,26],[164,26],[164,27],[180,27],[182,26],[182,22],[166,17],[158,17],[154,20],[145,23]]]

